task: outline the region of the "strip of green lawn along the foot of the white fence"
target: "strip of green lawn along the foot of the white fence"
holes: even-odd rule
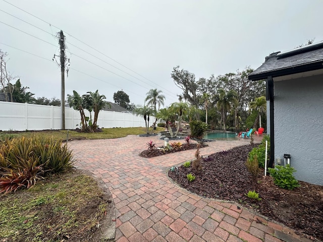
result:
[[[164,128],[157,127],[154,130],[154,133],[158,133],[160,131],[164,131]],[[126,137],[127,135],[141,135],[146,133],[146,128],[138,127],[138,128],[109,128],[102,129],[102,132],[96,133],[79,133],[75,130],[44,130],[44,131],[2,131],[0,132],[0,141],[4,141],[5,139],[12,139],[15,137],[32,137],[34,135],[37,136],[50,136],[56,140],[65,141],[67,138],[67,132],[69,139],[114,139]]]

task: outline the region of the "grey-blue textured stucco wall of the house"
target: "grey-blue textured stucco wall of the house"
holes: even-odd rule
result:
[[[323,75],[277,81],[274,92],[275,160],[290,154],[298,180],[323,185]]]

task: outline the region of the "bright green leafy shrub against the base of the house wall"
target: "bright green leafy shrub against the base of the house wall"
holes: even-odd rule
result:
[[[276,165],[275,168],[268,168],[268,172],[274,177],[275,185],[288,190],[293,190],[300,186],[293,175],[295,171],[290,165],[286,165],[286,167]]]

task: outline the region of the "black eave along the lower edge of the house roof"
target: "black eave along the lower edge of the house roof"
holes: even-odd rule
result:
[[[291,74],[297,74],[301,72],[315,71],[319,69],[323,69],[323,60],[320,60],[318,62],[308,63],[305,65],[274,70],[270,72],[263,72],[259,74],[253,74],[253,75],[251,74],[248,76],[248,79],[251,81],[259,81],[259,80],[267,79],[267,77],[269,76],[272,76],[274,78],[274,77],[281,77],[281,76],[286,76]]]

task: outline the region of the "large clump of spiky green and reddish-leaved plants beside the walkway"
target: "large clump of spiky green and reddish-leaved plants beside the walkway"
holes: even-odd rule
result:
[[[47,173],[73,167],[72,152],[62,141],[21,137],[0,144],[0,193],[30,188]]]

